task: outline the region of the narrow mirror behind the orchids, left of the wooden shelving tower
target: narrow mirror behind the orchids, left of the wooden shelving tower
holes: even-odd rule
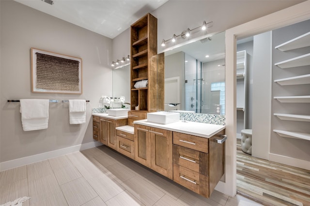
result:
[[[113,70],[113,108],[122,106],[118,100],[124,97],[125,108],[130,108],[130,65],[126,65]]]

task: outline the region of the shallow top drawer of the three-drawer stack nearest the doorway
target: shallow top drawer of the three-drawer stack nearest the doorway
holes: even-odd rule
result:
[[[190,134],[173,132],[173,144],[208,153],[209,139]]]

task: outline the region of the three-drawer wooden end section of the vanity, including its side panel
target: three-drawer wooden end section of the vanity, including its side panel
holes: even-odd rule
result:
[[[224,143],[217,139],[173,132],[173,181],[202,196],[210,197],[224,175]]]

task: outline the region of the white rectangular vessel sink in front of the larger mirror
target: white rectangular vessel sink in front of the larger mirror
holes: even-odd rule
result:
[[[174,112],[151,112],[146,116],[148,122],[157,124],[169,124],[180,120],[180,113]]]

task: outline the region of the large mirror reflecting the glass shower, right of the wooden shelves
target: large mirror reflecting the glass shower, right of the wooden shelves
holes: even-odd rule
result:
[[[165,52],[165,111],[225,115],[225,32]]]

